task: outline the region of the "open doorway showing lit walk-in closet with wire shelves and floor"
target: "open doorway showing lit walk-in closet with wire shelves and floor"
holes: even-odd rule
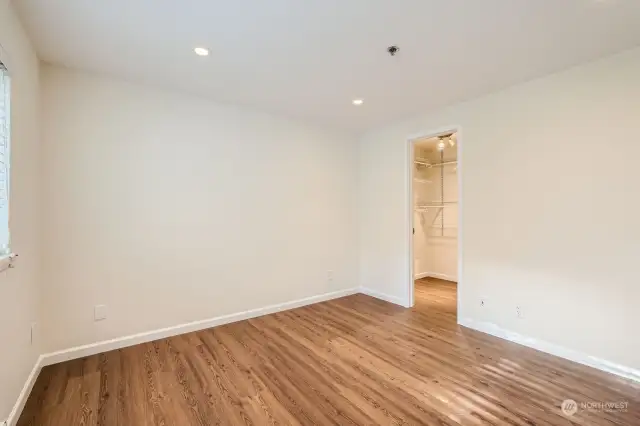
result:
[[[457,315],[458,137],[447,132],[413,141],[413,299]]]

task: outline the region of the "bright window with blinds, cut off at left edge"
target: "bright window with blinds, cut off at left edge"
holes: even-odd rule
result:
[[[9,250],[10,90],[7,68],[0,62],[0,256]]]

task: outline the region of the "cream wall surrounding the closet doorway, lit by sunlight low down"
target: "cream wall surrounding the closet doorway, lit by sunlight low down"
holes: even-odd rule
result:
[[[640,368],[638,76],[640,49],[363,137],[361,284],[406,298],[406,139],[459,125],[459,316]]]

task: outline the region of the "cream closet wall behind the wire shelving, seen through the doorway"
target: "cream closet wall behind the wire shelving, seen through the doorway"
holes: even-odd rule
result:
[[[432,164],[441,162],[438,152],[419,146],[415,149],[415,156]],[[413,213],[416,278],[431,276],[457,281],[458,205],[454,204],[458,201],[457,166],[425,167],[416,164],[413,195],[416,207]],[[439,207],[441,200],[444,200],[445,207]]]

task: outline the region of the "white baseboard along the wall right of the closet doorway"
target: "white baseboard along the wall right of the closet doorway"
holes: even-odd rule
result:
[[[499,337],[504,340],[508,340],[513,343],[517,343],[519,345],[528,346],[541,352],[568,359],[569,361],[577,362],[579,364],[593,367],[607,373],[615,374],[616,376],[625,377],[627,379],[640,382],[640,370],[587,355],[573,349],[567,349],[554,343],[549,343],[542,340],[534,339],[533,337],[524,336],[522,334],[506,330],[490,322],[477,321],[471,318],[460,318],[458,320],[458,324],[467,328],[471,328],[473,330],[490,334],[495,337]]]

